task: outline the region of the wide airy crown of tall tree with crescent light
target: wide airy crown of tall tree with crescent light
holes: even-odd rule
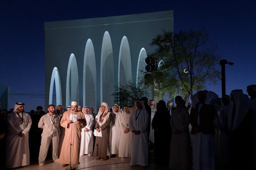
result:
[[[156,46],[156,50],[148,56],[164,61],[157,70],[162,74],[152,76],[154,86],[159,91],[176,91],[187,97],[186,106],[193,90],[201,90],[220,80],[220,71],[216,69],[220,59],[216,54],[217,45],[209,41],[204,29],[174,35],[163,30],[150,45]]]

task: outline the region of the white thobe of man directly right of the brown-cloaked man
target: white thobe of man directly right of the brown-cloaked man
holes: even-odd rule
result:
[[[115,116],[115,124],[112,126],[112,140],[111,140],[111,154],[118,154],[120,136],[121,136],[121,112],[114,112],[112,115]],[[113,118],[113,117],[112,117]]]

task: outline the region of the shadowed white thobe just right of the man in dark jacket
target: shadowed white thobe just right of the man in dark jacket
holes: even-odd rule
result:
[[[222,106],[220,109],[220,125],[221,128],[225,128],[225,120],[228,116],[230,109],[230,104],[227,106]],[[215,135],[216,136],[216,135]],[[219,133],[219,159],[220,164],[229,166],[229,148],[228,148],[228,135],[225,134],[225,131],[220,130]],[[217,136],[216,136],[217,137]]]

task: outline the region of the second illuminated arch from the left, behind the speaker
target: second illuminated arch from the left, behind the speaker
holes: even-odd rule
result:
[[[76,57],[72,53],[68,61],[67,84],[66,84],[66,106],[71,101],[76,100],[79,103],[79,86],[78,86],[78,70]]]

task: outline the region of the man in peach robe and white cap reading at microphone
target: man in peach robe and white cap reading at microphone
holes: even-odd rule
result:
[[[65,129],[64,141],[62,143],[59,162],[62,167],[70,163],[70,140],[72,135],[71,164],[79,163],[79,152],[81,145],[82,128],[86,126],[86,120],[83,112],[77,111],[77,101],[71,102],[71,109],[64,112],[60,125]]]

